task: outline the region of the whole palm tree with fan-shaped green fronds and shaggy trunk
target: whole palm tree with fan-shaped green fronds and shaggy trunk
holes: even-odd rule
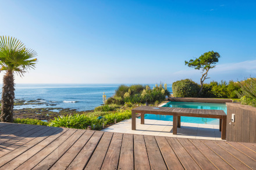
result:
[[[15,99],[14,73],[21,77],[30,68],[35,68],[37,53],[27,49],[19,39],[1,36],[0,40],[0,71],[3,75],[1,121],[13,122],[13,104]]]

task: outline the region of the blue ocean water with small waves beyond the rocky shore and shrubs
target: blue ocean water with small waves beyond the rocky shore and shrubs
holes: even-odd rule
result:
[[[78,111],[94,110],[101,106],[102,95],[106,97],[115,94],[115,90],[120,84],[16,84],[15,99],[36,100],[41,104],[27,104],[15,106],[20,108],[45,108],[62,107],[72,108]],[[130,85],[130,84],[126,84]],[[152,87],[155,84],[148,84]],[[172,92],[172,85],[168,85],[168,90]],[[54,105],[54,106],[52,106]]]

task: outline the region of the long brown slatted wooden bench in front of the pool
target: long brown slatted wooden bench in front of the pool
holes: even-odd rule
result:
[[[173,134],[177,134],[177,127],[180,128],[180,117],[202,117],[202,118],[218,118],[219,131],[221,131],[221,139],[226,139],[226,123],[227,115],[223,110],[209,110],[198,108],[179,108],[179,107],[154,107],[140,106],[131,110],[131,129],[136,130],[136,113],[141,114],[141,124],[144,124],[145,114],[161,114],[173,115]]]

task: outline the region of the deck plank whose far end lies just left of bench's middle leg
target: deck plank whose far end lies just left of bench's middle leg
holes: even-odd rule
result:
[[[155,136],[155,139],[157,140],[166,167],[168,169],[184,169],[165,137]]]

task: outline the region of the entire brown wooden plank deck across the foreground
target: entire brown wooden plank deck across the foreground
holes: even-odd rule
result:
[[[0,169],[256,169],[256,144],[0,123]]]

